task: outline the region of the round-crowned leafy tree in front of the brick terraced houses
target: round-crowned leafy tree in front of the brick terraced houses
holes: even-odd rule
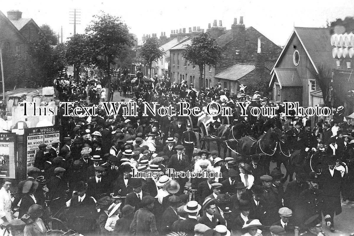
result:
[[[217,64],[221,57],[221,48],[215,44],[215,39],[211,38],[209,33],[202,33],[192,39],[191,45],[187,45],[183,57],[199,67],[199,87],[201,87],[205,66]]]

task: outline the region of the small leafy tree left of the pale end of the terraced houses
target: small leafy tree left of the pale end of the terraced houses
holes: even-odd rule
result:
[[[164,51],[159,48],[160,40],[156,38],[148,38],[145,44],[139,48],[139,56],[144,60],[145,63],[149,65],[150,76],[151,67],[153,62],[158,62],[158,60],[164,54]]]

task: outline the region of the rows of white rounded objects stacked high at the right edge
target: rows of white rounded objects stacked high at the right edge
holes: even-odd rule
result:
[[[337,59],[337,66],[342,65],[344,58],[353,58],[354,56],[354,34],[333,34],[331,36],[332,57]],[[351,61],[347,62],[347,68],[351,68]]]

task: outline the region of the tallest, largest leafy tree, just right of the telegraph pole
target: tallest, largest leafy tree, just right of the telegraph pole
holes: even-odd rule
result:
[[[127,25],[120,17],[114,17],[102,12],[93,16],[95,19],[86,28],[89,40],[91,62],[105,71],[107,76],[107,96],[111,91],[111,64],[119,55],[125,52],[127,46],[133,45],[133,37],[129,34]]]

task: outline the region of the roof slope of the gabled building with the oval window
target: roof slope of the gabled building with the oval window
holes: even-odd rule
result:
[[[319,65],[328,69],[336,68],[336,61],[331,57],[330,29],[295,27],[295,32],[317,70]]]

